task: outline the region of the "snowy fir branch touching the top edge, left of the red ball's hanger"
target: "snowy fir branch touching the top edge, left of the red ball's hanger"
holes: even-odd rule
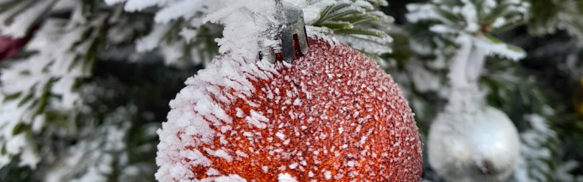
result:
[[[136,42],[136,51],[157,49],[167,64],[206,64],[218,53],[213,39],[220,37],[221,28],[202,21],[231,0],[105,0],[108,5],[124,3],[127,12],[147,12],[154,9],[152,31]]]

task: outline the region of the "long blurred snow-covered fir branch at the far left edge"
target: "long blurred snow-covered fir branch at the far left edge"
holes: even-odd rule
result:
[[[31,135],[42,131],[47,118],[79,104],[75,86],[91,75],[107,16],[86,20],[80,5],[72,8],[79,19],[45,21],[27,48],[36,53],[2,69],[0,142],[6,152],[0,166],[22,153],[21,164],[34,168],[40,159]]]

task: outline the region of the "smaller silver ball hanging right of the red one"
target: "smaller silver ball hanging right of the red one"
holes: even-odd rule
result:
[[[448,182],[505,181],[519,155],[518,131],[505,113],[479,103],[480,94],[472,92],[450,100],[474,97],[438,114],[431,124],[429,164]]]

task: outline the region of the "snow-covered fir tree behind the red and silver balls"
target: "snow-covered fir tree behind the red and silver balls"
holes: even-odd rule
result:
[[[234,1],[0,0],[2,36],[31,37],[0,62],[0,181],[154,181],[156,129],[182,82],[226,49],[230,30],[207,20]],[[571,104],[583,92],[581,1],[288,2],[308,29],[394,76],[422,138],[462,78],[452,65],[472,60],[487,103],[520,132],[509,181],[583,181]]]

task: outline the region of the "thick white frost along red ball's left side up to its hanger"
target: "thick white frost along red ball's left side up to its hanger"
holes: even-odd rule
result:
[[[261,4],[261,2],[257,3]],[[159,151],[156,158],[157,164],[160,165],[160,169],[156,173],[157,180],[173,181],[175,178],[191,177],[192,172],[182,170],[182,165],[196,165],[198,163],[199,165],[202,164],[203,166],[206,166],[210,164],[210,161],[204,160],[205,157],[200,155],[201,152],[196,149],[194,149],[193,152],[199,153],[199,155],[189,157],[189,159],[194,161],[187,163],[181,160],[180,162],[184,164],[173,164],[173,159],[180,158],[180,155],[174,152],[175,147],[182,146],[181,148],[184,148],[184,146],[199,146],[202,144],[201,142],[212,141],[212,137],[216,132],[209,127],[206,127],[210,123],[202,120],[201,117],[219,119],[216,120],[217,122],[213,123],[213,125],[216,125],[217,127],[221,127],[222,125],[219,121],[226,121],[227,123],[231,122],[231,118],[224,114],[225,111],[210,99],[214,95],[222,93],[209,92],[205,89],[205,86],[202,85],[217,85],[223,86],[226,89],[236,90],[240,93],[240,96],[225,97],[227,100],[234,100],[239,97],[244,98],[255,90],[254,86],[251,85],[251,82],[249,82],[244,75],[263,75],[264,78],[269,78],[275,73],[275,71],[273,71],[273,64],[268,61],[256,60],[259,45],[255,43],[257,43],[257,40],[261,40],[259,37],[269,36],[265,31],[268,30],[270,23],[263,22],[266,19],[253,19],[250,17],[251,15],[271,17],[268,15],[269,13],[274,12],[272,8],[273,6],[269,6],[270,4],[272,5],[272,3],[273,1],[268,1],[263,3],[264,5],[252,6],[250,3],[239,1],[231,3],[223,10],[219,10],[218,12],[209,15],[208,20],[212,20],[216,23],[223,23],[225,25],[224,37],[219,40],[219,44],[222,46],[220,51],[223,53],[229,51],[229,54],[223,56],[222,59],[224,61],[212,62],[212,64],[208,65],[207,69],[199,71],[199,75],[205,76],[189,78],[186,82],[189,86],[181,90],[177,95],[177,98],[170,102],[170,106],[173,110],[168,113],[168,122],[163,123],[162,129],[159,132],[160,140],[162,142],[158,145]],[[261,24],[261,26],[250,23],[254,21],[258,21],[257,23]],[[269,22],[272,20],[268,19],[267,21]],[[235,48],[239,44],[244,46]],[[195,103],[194,108],[197,111],[196,113],[187,109],[192,106],[185,106],[190,105],[190,103]],[[237,113],[240,117],[243,117],[243,114],[244,113],[241,112]],[[256,111],[248,113],[248,115],[245,116],[245,121],[258,128],[265,128],[266,123],[269,122],[268,118],[262,113]],[[194,131],[196,131],[196,133],[201,134],[199,135],[200,137],[197,136],[197,139],[195,139],[193,138],[193,135],[175,135],[178,131],[181,131],[182,128],[185,128],[188,125],[198,126],[193,129],[195,129]],[[224,157],[227,160],[233,159],[232,155],[224,150],[217,150],[214,154]],[[215,181],[221,180],[244,181],[243,178],[233,175],[215,179]]]

